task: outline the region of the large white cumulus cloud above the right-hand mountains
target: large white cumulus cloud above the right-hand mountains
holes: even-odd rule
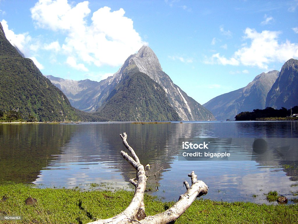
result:
[[[298,57],[298,43],[286,40],[279,42],[280,31],[256,30],[246,28],[244,39],[250,40],[250,45],[245,43],[229,59],[219,53],[213,54],[211,58],[205,58],[207,64],[222,65],[247,65],[268,69],[271,62],[285,62],[291,58]]]

